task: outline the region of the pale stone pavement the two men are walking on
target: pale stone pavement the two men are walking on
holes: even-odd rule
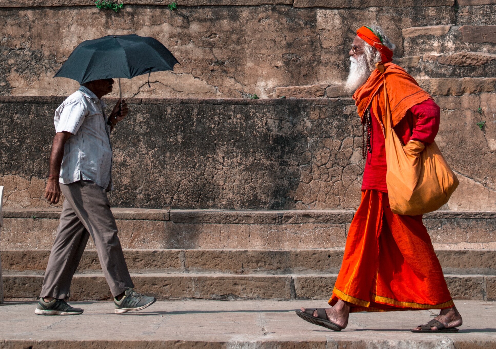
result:
[[[204,348],[368,349],[496,348],[496,302],[458,300],[464,324],[457,334],[414,334],[436,311],[355,313],[333,332],[298,318],[300,306],[321,300],[157,301],[140,312],[114,314],[112,302],[71,302],[77,316],[39,316],[33,301],[0,305],[1,349]]]

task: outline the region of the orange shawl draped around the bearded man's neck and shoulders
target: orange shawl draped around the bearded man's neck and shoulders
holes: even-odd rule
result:
[[[431,95],[424,91],[417,81],[399,65],[389,62],[384,66],[393,126],[396,126],[410,108],[430,99]],[[367,82],[355,91],[353,99],[362,120],[369,107],[377,118],[385,114],[383,84],[382,74],[379,69],[375,69]],[[379,121],[382,120],[379,119]]]

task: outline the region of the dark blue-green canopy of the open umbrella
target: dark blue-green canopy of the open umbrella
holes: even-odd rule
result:
[[[174,70],[178,60],[158,40],[136,34],[108,35],[79,44],[54,77],[80,84],[108,78],[132,78]]]

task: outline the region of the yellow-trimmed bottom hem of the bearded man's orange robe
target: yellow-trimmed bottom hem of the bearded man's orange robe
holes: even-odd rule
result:
[[[382,297],[377,294],[371,293],[371,300],[375,303],[383,303],[384,305],[389,305],[389,306],[398,306],[402,308],[398,309],[380,309],[376,307],[370,307],[370,302],[355,298],[351,295],[345,294],[342,291],[339,291],[334,287],[332,290],[332,293],[334,293],[339,299],[344,300],[346,302],[350,302],[353,304],[358,305],[359,307],[352,307],[352,312],[358,312],[358,311],[395,311],[395,310],[412,310],[412,309],[418,309],[418,310],[425,310],[425,309],[445,309],[445,308],[451,308],[455,304],[453,303],[453,300],[450,299],[447,302],[441,303],[441,304],[420,304],[420,303],[413,303],[413,302],[401,302],[399,300],[393,299],[393,298],[388,298],[388,297]],[[332,298],[331,298],[332,299]],[[360,310],[359,310],[360,309]]]

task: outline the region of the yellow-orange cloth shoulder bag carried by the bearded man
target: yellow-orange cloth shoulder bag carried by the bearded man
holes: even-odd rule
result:
[[[408,216],[435,211],[448,202],[459,184],[458,178],[435,142],[425,146],[422,142],[410,141],[403,146],[393,129],[386,79],[383,79],[386,185],[391,211]]]

